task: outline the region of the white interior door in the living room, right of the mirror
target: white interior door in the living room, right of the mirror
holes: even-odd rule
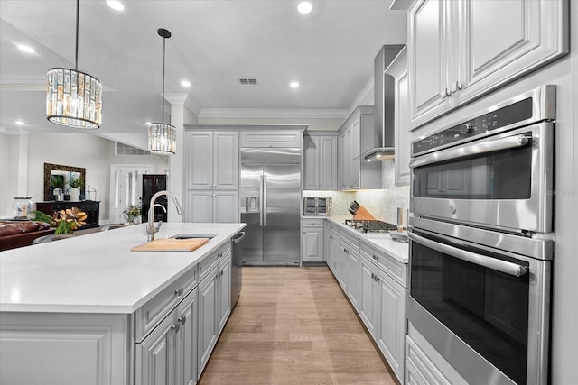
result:
[[[143,174],[153,172],[150,164],[110,165],[110,207],[108,217],[111,223],[122,224],[123,208],[141,202],[143,197]]]

